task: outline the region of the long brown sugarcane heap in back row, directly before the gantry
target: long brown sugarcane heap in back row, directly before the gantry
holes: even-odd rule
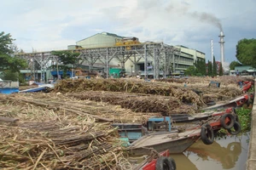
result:
[[[78,79],[75,81],[63,80],[55,86],[55,92],[61,93],[89,90],[172,96],[179,101],[201,105],[200,97],[193,91],[181,89],[169,83],[138,82],[125,79]]]

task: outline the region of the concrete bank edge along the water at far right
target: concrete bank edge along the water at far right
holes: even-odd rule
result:
[[[255,79],[256,80],[256,79]],[[256,82],[256,81],[255,81]],[[256,84],[254,83],[254,89]],[[255,96],[255,91],[254,91]],[[247,156],[247,170],[253,170],[256,167],[256,101],[253,102],[251,136]]]

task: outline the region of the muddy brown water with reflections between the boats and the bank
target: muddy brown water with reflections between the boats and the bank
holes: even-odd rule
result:
[[[210,145],[201,140],[183,154],[171,155],[177,170],[243,170],[246,168],[250,133],[215,139]],[[256,168],[255,168],[256,169]]]

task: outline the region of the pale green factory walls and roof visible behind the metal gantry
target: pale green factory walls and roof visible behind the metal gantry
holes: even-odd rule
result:
[[[121,45],[119,44],[120,41],[124,40],[127,37],[118,36],[113,33],[108,32],[102,32],[97,33],[96,35],[93,35],[91,37],[84,38],[78,42],[76,42],[76,45],[70,45],[67,48],[68,49],[75,49],[75,48],[107,48],[107,47],[113,47]],[[132,37],[136,38],[136,37]],[[135,42],[135,41],[133,41]],[[139,42],[138,39],[136,39],[136,42]],[[129,43],[129,42],[128,42]],[[150,42],[139,42],[139,43],[150,43]],[[129,46],[127,46],[129,47]],[[183,73],[186,69],[189,68],[189,66],[193,66],[194,63],[199,59],[205,59],[205,54],[196,50],[184,47],[182,45],[175,46],[177,49],[177,52],[173,54],[171,59],[171,65],[170,70],[172,73]],[[129,49],[127,49],[129,50]],[[132,56],[135,57],[135,56]],[[138,56],[139,57],[139,56]],[[153,58],[148,57],[148,75],[153,74],[152,65]],[[142,74],[143,71],[145,71],[144,67],[144,61],[145,59],[139,59],[137,62],[132,62],[131,59],[127,59],[124,65],[125,71],[128,75],[137,75]],[[86,61],[83,63],[84,65],[87,65]],[[97,63],[95,63],[97,65]],[[119,62],[118,59],[112,59],[111,65],[116,65],[116,67],[121,67],[122,63]]]

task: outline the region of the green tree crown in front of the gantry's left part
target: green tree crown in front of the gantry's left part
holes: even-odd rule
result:
[[[63,65],[74,65],[79,60],[79,53],[72,53],[70,51],[53,51],[51,54],[58,56]]]

